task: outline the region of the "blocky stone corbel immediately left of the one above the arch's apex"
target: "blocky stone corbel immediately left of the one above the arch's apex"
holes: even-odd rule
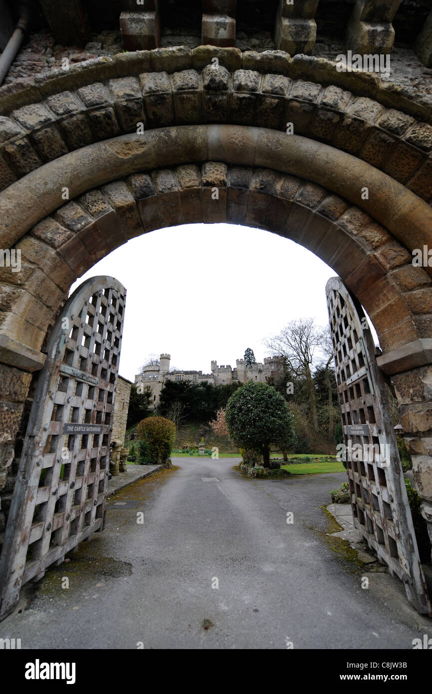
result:
[[[127,51],[151,51],[160,46],[159,0],[124,0],[120,31]]]

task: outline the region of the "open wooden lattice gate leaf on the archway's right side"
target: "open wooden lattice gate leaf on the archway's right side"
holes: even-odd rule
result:
[[[408,600],[430,613],[385,382],[362,307],[339,278],[326,286],[344,460],[354,524],[405,584]]]

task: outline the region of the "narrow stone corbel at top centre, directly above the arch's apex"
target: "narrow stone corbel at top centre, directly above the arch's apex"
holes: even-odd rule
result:
[[[202,0],[203,46],[235,46],[235,6],[237,0]]]

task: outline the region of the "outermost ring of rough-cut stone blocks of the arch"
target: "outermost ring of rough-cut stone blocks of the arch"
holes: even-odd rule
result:
[[[338,73],[324,59],[201,49],[195,49],[194,60],[188,49],[122,54],[121,76],[106,71],[105,59],[95,65],[88,61],[71,68],[72,74],[50,77],[51,88],[44,94],[38,96],[32,86],[0,97],[0,187],[68,151],[136,132],[137,123],[144,130],[226,122],[285,132],[290,122],[297,135],[348,151],[432,201],[432,127],[427,122],[432,122],[432,106],[426,97],[410,94],[408,99],[391,85],[394,98],[382,103],[379,78]],[[221,62],[213,68],[211,58],[218,51]],[[289,71],[282,69],[283,60]],[[365,90],[371,80],[374,90]]]

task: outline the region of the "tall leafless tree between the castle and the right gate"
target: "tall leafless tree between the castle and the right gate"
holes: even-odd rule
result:
[[[322,359],[326,344],[325,330],[315,325],[313,318],[290,321],[279,335],[263,340],[272,355],[285,358],[288,369],[306,380],[310,405],[310,423],[318,430],[317,402],[312,369]],[[329,361],[330,363],[330,361]]]

